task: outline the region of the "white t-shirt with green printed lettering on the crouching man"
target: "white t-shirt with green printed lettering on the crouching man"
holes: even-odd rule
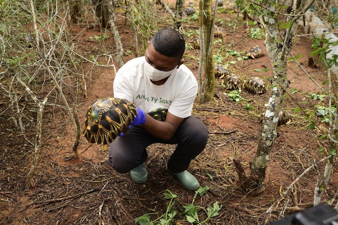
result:
[[[128,61],[114,79],[114,97],[133,102],[145,113],[166,108],[180,118],[191,115],[198,84],[193,73],[185,65],[180,65],[175,74],[160,86],[151,83],[144,75],[145,57]]]

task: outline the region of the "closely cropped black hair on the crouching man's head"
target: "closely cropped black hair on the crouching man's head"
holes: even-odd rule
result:
[[[168,57],[182,59],[186,49],[184,35],[171,28],[163,28],[156,32],[150,43],[156,51]]]

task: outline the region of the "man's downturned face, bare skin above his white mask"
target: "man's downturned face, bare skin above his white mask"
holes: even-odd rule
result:
[[[178,63],[177,66],[177,58],[162,55],[154,49],[151,43],[148,44],[145,52],[145,58],[152,67],[158,69],[159,71],[172,71],[175,67],[178,68],[178,66],[182,64]]]

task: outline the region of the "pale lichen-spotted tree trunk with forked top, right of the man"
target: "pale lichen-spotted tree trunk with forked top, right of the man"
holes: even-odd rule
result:
[[[308,7],[303,7],[306,0],[300,0],[297,8],[293,9],[294,14],[303,14]],[[307,8],[307,9],[306,9]],[[268,6],[270,11],[275,11],[273,4]],[[293,46],[293,38],[295,34],[295,27],[293,26],[299,16],[292,16],[291,18],[285,18],[285,21],[291,21],[290,26],[281,33],[282,42],[278,43],[276,40],[278,23],[277,18],[271,18],[263,16],[263,25],[266,30],[264,45],[268,52],[271,65],[272,65],[272,78],[271,82],[271,95],[268,102],[268,107],[264,115],[264,121],[262,124],[260,141],[257,147],[257,152],[254,160],[250,162],[250,176],[246,177],[246,181],[242,182],[242,188],[245,191],[252,189],[264,189],[264,179],[266,175],[266,169],[269,162],[273,141],[276,137],[276,126],[279,119],[280,111],[283,106],[283,95],[286,89],[289,87],[289,81],[287,80],[287,51]],[[240,174],[239,174],[240,175]]]

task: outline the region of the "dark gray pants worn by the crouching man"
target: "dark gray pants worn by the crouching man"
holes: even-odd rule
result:
[[[117,137],[109,146],[109,164],[118,173],[127,173],[147,160],[146,147],[154,143],[177,144],[167,167],[179,173],[189,167],[190,161],[206,147],[206,126],[195,116],[183,120],[170,140],[154,137],[142,126],[129,129],[123,137]]]

